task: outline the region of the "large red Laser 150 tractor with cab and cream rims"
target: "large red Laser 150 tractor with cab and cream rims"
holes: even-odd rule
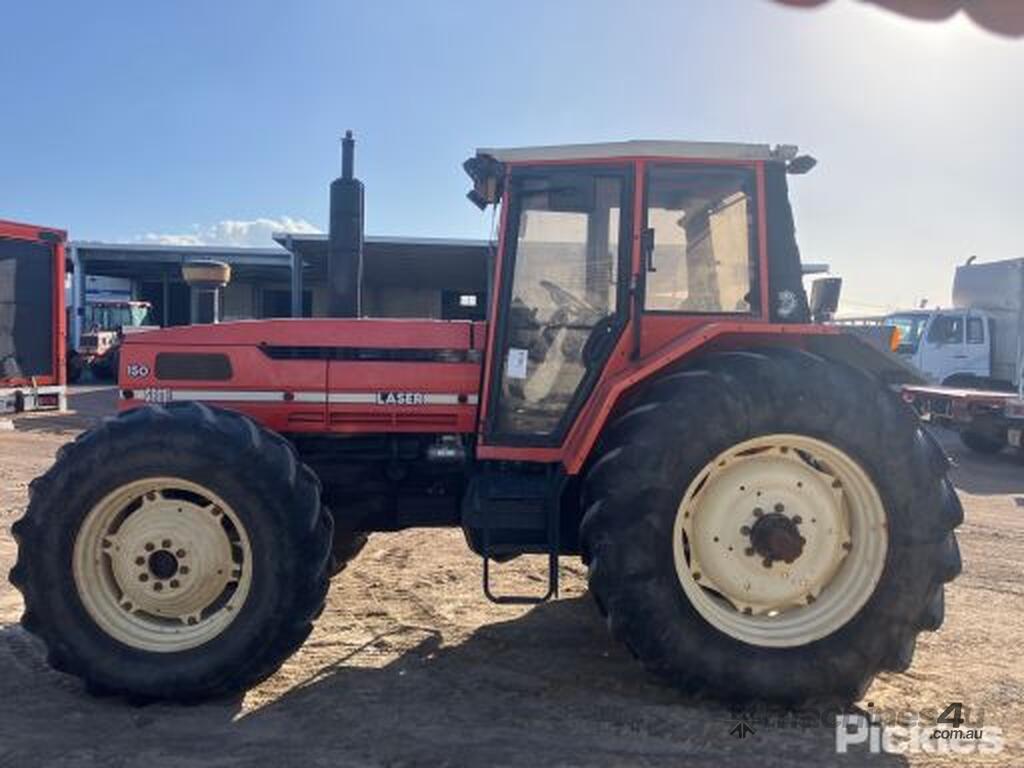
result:
[[[361,185],[332,186],[332,314],[125,339],[121,414],[14,527],[24,626],[91,689],[272,674],[372,531],[461,526],[500,602],[580,555],[611,632],[685,691],[858,698],[943,620],[963,510],[892,391],[812,323],[796,147],[479,151],[486,322],[360,319]],[[549,557],[545,594],[494,561]]]

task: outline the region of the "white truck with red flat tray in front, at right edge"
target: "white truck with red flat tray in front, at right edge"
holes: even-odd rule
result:
[[[1024,259],[956,268],[951,310],[891,321],[899,350],[916,355],[945,386],[907,386],[903,396],[927,420],[951,427],[972,451],[1018,451],[1024,433]],[[934,331],[933,331],[934,329]]]

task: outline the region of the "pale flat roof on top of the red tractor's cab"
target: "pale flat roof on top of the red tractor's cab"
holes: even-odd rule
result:
[[[610,158],[692,158],[699,160],[773,160],[787,161],[797,156],[794,144],[742,144],[727,141],[632,140],[595,144],[556,144],[480,148],[501,163],[526,163],[551,160],[600,160]]]

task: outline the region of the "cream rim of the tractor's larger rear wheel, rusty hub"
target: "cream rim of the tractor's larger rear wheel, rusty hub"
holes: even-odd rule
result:
[[[873,594],[888,546],[867,472],[835,445],[796,434],[716,457],[687,487],[673,532],[679,583],[697,612],[768,647],[846,626]]]

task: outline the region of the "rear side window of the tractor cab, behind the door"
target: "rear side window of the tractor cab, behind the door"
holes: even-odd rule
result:
[[[646,272],[646,309],[755,311],[754,188],[754,173],[745,169],[651,168],[646,225],[654,243]]]

